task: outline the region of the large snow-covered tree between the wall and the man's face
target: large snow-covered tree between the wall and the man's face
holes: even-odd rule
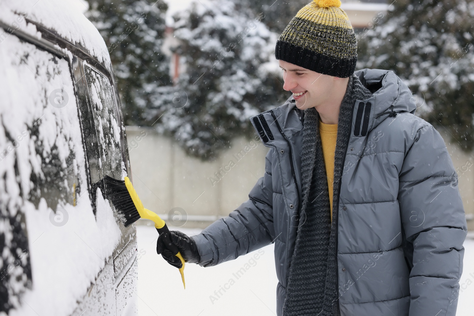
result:
[[[172,88],[155,90],[146,117],[187,153],[212,159],[236,136],[255,136],[249,117],[283,103],[274,46],[278,34],[239,1],[200,0],[174,16],[173,50],[185,68]]]

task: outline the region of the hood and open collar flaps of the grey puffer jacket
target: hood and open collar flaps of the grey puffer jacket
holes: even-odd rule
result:
[[[395,113],[409,112],[415,114],[416,104],[412,101],[412,93],[394,72],[366,68],[358,70],[354,74],[372,92],[372,96],[365,100],[356,101],[352,126],[357,126],[356,112],[359,110],[359,107],[363,107],[360,110],[361,115],[362,112],[367,111],[367,113],[364,113],[364,124],[368,125],[367,133],[378,126],[384,119],[396,118]],[[290,136],[303,128],[301,120],[303,116],[303,111],[296,108],[296,101],[291,96],[282,106],[250,117],[250,121],[264,143],[270,142],[269,144],[271,144],[275,134],[274,132],[272,133],[275,119],[279,123],[278,128],[281,128],[285,135]],[[367,119],[368,122],[366,122]],[[358,123],[360,125],[361,122]],[[272,126],[272,128],[269,126]]]

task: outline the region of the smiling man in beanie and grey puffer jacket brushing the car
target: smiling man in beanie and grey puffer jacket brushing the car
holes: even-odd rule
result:
[[[270,150],[249,199],[173,243],[205,267],[274,243],[279,316],[454,316],[466,236],[456,171],[400,78],[354,73],[339,6],[314,0],[276,43],[293,95],[251,118]],[[161,238],[157,252],[181,266]]]

